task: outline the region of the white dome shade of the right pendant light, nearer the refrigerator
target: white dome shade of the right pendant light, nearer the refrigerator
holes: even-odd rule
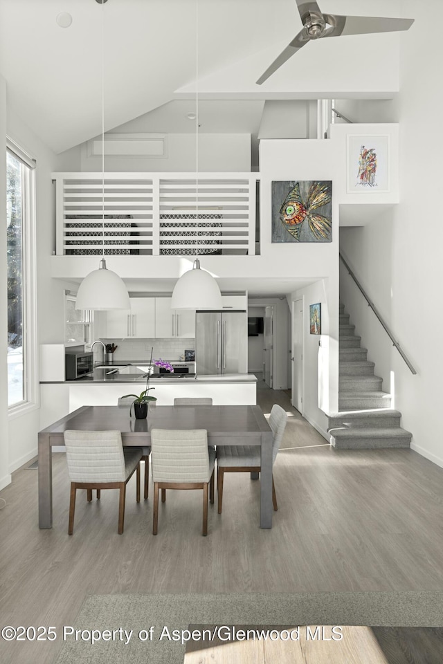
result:
[[[214,277],[200,269],[196,259],[192,270],[181,275],[172,291],[172,309],[221,309],[221,293]]]

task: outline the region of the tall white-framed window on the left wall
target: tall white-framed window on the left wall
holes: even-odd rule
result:
[[[13,409],[36,400],[34,167],[33,160],[8,141],[8,406]]]

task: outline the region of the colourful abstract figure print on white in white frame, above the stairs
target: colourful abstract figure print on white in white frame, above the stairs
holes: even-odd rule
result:
[[[386,193],[389,182],[389,136],[347,136],[347,193]]]

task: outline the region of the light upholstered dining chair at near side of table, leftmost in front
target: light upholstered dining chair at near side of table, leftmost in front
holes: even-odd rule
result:
[[[126,485],[136,470],[136,500],[140,502],[140,448],[123,448],[119,431],[64,432],[66,460],[71,479],[68,534],[74,530],[75,496],[77,489],[86,489],[88,501],[92,490],[100,499],[102,489],[119,489],[118,534],[125,523]]]

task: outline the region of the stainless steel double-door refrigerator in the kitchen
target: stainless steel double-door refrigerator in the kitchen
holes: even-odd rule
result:
[[[197,311],[195,362],[197,376],[247,374],[246,311]]]

